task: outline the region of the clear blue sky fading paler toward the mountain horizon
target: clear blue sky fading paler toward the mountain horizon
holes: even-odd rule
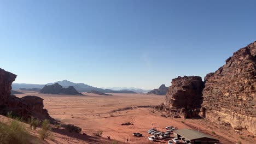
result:
[[[15,83],[170,86],[256,40],[256,1],[3,0],[0,16],[0,68]]]

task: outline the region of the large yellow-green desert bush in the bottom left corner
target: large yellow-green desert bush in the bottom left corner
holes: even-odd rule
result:
[[[11,123],[0,123],[0,143],[25,144],[30,143],[30,134],[26,130],[26,125],[16,120]]]

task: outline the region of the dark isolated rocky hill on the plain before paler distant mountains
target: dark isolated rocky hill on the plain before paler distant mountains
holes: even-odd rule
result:
[[[45,85],[40,93],[45,94],[67,94],[67,95],[83,95],[79,93],[73,86],[69,86],[68,88],[63,88],[59,83],[55,83],[54,85]]]

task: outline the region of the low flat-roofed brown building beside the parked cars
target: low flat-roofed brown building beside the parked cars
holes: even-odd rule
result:
[[[173,135],[175,138],[182,140],[186,143],[198,143],[198,144],[214,144],[219,143],[218,139],[214,137],[201,133],[199,131],[191,130],[191,129],[179,129],[174,130]]]

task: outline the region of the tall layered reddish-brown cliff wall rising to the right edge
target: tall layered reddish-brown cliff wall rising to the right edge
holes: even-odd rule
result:
[[[256,42],[234,52],[205,77],[202,117],[256,135]]]

